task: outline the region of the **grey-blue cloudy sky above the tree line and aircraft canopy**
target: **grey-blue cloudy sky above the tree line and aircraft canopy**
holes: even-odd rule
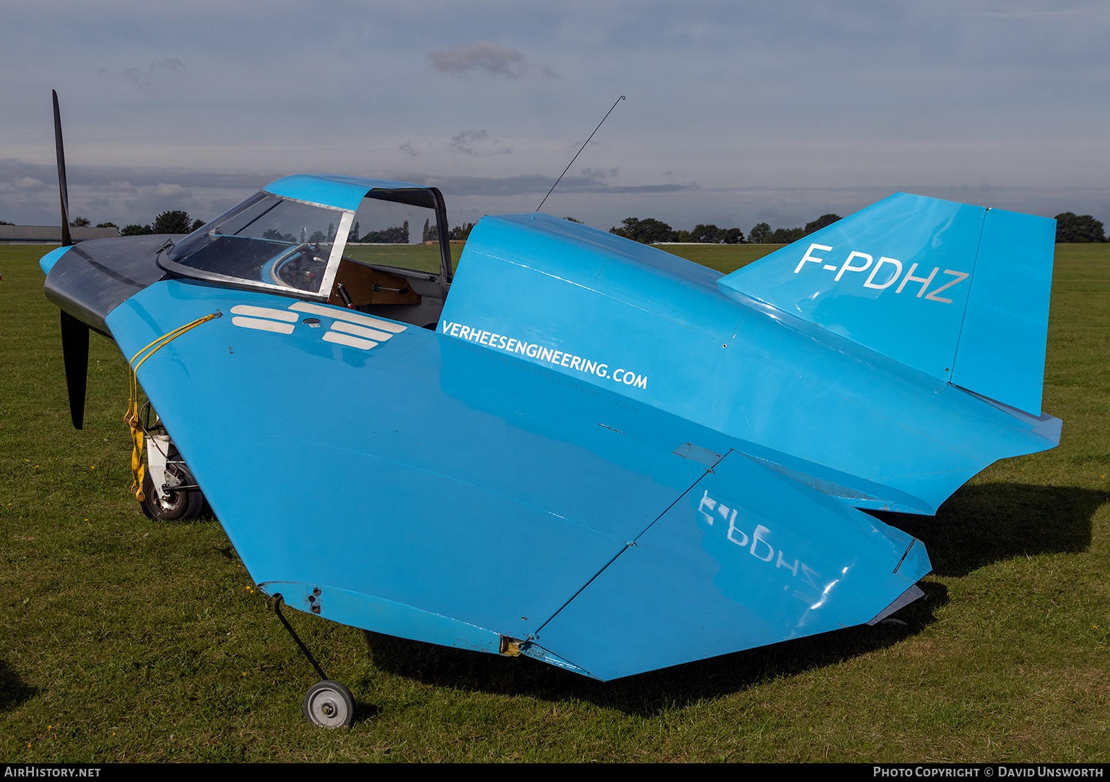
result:
[[[790,228],[899,190],[1110,223],[1110,3],[0,4],[0,219],[210,219],[301,172],[438,186],[453,224]]]

